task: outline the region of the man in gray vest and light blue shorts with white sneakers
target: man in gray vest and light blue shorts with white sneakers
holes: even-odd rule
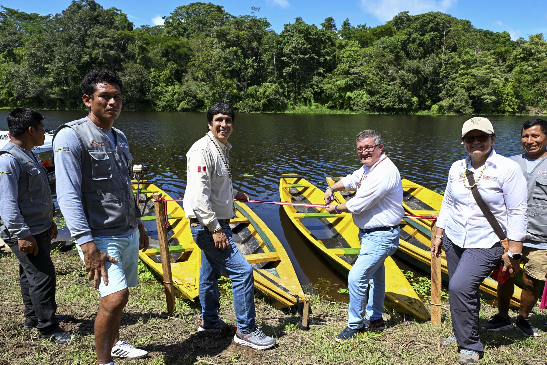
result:
[[[101,294],[95,318],[97,365],[112,357],[148,353],[120,340],[121,312],[137,286],[138,250],[148,236],[131,187],[129,142],[113,128],[121,111],[120,77],[96,69],[82,81],[87,117],[61,125],[53,136],[57,196],[67,227]]]

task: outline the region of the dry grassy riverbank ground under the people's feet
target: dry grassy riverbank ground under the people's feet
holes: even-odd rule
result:
[[[23,305],[19,292],[18,261],[13,253],[0,258],[0,365],[4,364],[95,364],[93,321],[98,310],[98,296],[87,280],[75,251],[54,252],[57,271],[57,304],[59,314],[70,321],[62,327],[78,331],[82,339],[75,344],[59,346],[40,341],[36,331],[22,326]],[[141,277],[146,277],[143,273]],[[313,314],[310,331],[299,329],[300,315],[272,308],[256,298],[257,319],[264,332],[278,340],[269,351],[255,351],[236,345],[234,329],[219,334],[197,333],[199,304],[178,300],[176,312],[165,315],[162,285],[152,279],[131,289],[130,299],[121,319],[121,338],[149,351],[149,357],[117,360],[117,364],[456,364],[455,347],[440,347],[439,338],[451,333],[450,312],[444,307],[441,327],[429,322],[416,322],[399,314],[385,314],[389,328],[385,332],[363,335],[358,340],[339,344],[334,336],[346,325],[347,304],[325,302],[312,297]],[[223,296],[221,315],[235,323],[228,296]],[[495,309],[484,306],[481,321]],[[534,309],[532,323],[543,329],[546,312]],[[481,333],[486,355],[481,364],[538,365],[546,364],[547,333],[536,339],[525,339],[516,330],[501,334]]]

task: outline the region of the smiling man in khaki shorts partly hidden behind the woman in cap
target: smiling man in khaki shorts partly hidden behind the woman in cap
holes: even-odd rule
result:
[[[520,296],[520,311],[516,317],[516,328],[526,337],[540,336],[532,326],[528,315],[538,302],[540,288],[547,275],[547,121],[531,119],[522,125],[521,142],[526,153],[510,159],[519,163],[528,183],[528,239],[523,242],[522,254],[514,254],[524,264],[522,281],[524,287]],[[509,318],[509,302],[515,279],[510,277],[504,284],[498,284],[498,314],[482,328],[501,331],[512,328]]]

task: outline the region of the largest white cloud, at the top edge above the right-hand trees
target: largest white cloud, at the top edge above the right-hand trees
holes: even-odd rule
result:
[[[428,11],[449,10],[457,0],[359,0],[359,4],[367,13],[374,14],[381,21],[388,21],[401,11],[410,15],[427,13]]]

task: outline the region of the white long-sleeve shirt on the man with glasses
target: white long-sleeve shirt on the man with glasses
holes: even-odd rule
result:
[[[380,160],[384,157],[382,154]],[[363,172],[366,178],[358,188]],[[391,227],[400,223],[404,215],[403,184],[397,166],[390,159],[386,158],[372,171],[363,165],[341,181],[345,190],[356,190],[346,208],[358,228]]]

